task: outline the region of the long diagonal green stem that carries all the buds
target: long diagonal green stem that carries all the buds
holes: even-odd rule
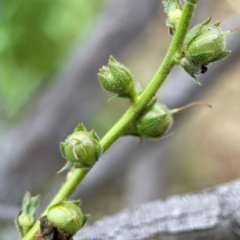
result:
[[[198,0],[186,0],[183,8],[182,17],[179,21],[176,32],[173,36],[167,54],[159,67],[157,73],[144,92],[139,96],[138,101],[133,103],[122,118],[110,129],[110,131],[102,138],[101,145],[103,152],[105,152],[120,136],[123,130],[139,115],[141,110],[148,104],[152,97],[156,94],[159,87],[162,85],[169,72],[175,65],[175,58],[181,50],[184,38],[186,36],[191,17]],[[181,84],[181,83],[179,83]],[[89,170],[78,169],[75,170],[72,176],[65,182],[57,195],[51,201],[49,206],[56,203],[60,199],[67,199],[78,184],[82,181]],[[49,207],[48,206],[48,207]],[[47,209],[43,212],[42,216],[46,214]],[[31,230],[26,234],[22,240],[33,240],[34,233],[39,229],[39,221],[37,221]]]

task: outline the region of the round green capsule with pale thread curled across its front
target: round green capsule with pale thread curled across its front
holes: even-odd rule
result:
[[[68,162],[59,172],[72,166],[91,168],[102,154],[96,132],[94,130],[87,132],[82,123],[67,137],[65,142],[60,143],[60,150]]]

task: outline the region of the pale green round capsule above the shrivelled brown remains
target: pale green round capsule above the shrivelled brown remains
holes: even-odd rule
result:
[[[61,201],[49,207],[46,217],[54,227],[73,236],[86,222],[79,205],[80,201]]]

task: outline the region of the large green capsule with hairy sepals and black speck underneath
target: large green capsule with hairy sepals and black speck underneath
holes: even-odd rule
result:
[[[211,18],[191,29],[184,41],[182,58],[178,63],[200,84],[195,75],[205,73],[207,66],[230,54],[224,51],[225,36],[231,31],[222,32],[220,23],[211,24]]]

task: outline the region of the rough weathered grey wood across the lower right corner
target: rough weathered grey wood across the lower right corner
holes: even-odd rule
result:
[[[74,240],[234,240],[240,238],[240,181],[126,209]]]

